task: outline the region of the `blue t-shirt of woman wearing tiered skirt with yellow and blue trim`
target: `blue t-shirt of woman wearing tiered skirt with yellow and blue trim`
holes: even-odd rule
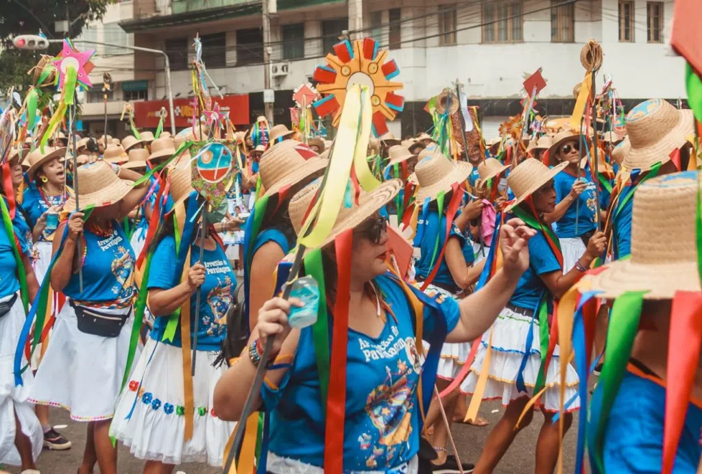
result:
[[[529,268],[522,273],[517,289],[510,298],[510,303],[520,308],[536,310],[543,292],[548,292],[539,275],[560,270],[556,256],[553,255],[543,231],[536,231],[536,236],[529,239]]]

